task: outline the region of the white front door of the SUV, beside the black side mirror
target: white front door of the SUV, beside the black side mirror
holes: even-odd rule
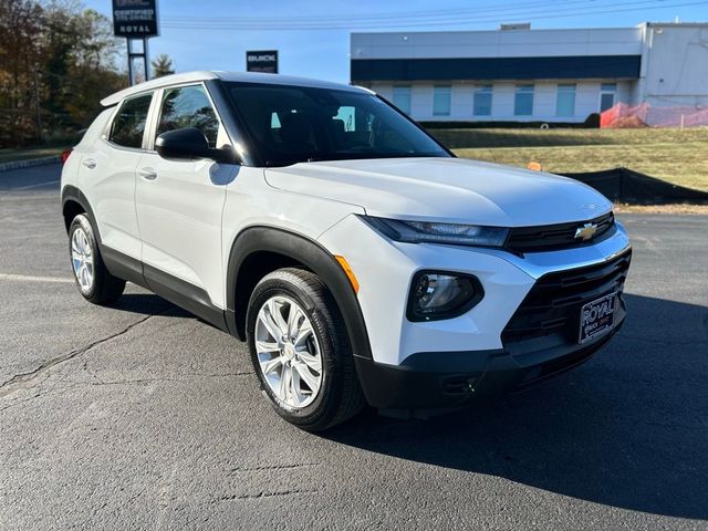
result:
[[[229,144],[204,84],[164,88],[157,97],[149,149],[137,165],[136,209],[145,278],[168,299],[171,292],[223,309],[221,214],[226,185],[236,177],[238,166],[205,159],[167,160],[157,155],[155,138],[183,127],[200,129],[211,147]],[[189,301],[176,302],[191,309]]]

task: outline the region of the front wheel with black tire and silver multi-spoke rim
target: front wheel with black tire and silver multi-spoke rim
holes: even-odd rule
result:
[[[278,326],[274,312],[280,312],[280,322],[285,325],[294,312],[294,330]],[[251,294],[246,319],[253,369],[263,394],[282,418],[304,430],[321,431],[364,407],[346,325],[332,294],[315,274],[288,268],[266,275]],[[290,334],[285,341],[275,337],[283,330],[288,331],[284,335]],[[308,385],[311,379],[319,379],[316,391]],[[290,393],[283,391],[288,383]]]

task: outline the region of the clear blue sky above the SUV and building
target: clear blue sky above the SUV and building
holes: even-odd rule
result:
[[[84,3],[111,17],[111,0]],[[160,37],[150,40],[149,53],[169,54],[178,72],[244,70],[246,50],[274,49],[281,73],[339,82],[348,82],[352,31],[493,30],[501,22],[521,21],[543,29],[629,27],[676,17],[683,22],[708,20],[708,1],[698,0],[158,0],[158,10]],[[341,29],[232,28],[247,18],[258,19],[256,24],[333,21]],[[439,25],[428,25],[431,20]]]

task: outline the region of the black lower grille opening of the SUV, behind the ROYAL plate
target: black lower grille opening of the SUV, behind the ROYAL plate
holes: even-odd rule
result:
[[[504,350],[523,355],[577,344],[582,306],[613,292],[618,293],[621,319],[631,260],[632,251],[626,251],[608,262],[541,277],[504,327]]]

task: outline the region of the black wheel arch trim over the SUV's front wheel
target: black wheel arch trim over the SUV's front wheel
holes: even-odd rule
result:
[[[250,293],[239,293],[238,279],[246,259],[256,252],[273,252],[296,260],[317,274],[327,287],[342,312],[356,357],[371,358],[371,345],[366,323],[356,293],[336,259],[322,244],[279,227],[256,226],[243,229],[235,239],[229,253],[227,270],[227,312],[229,330],[246,339],[243,309]]]

